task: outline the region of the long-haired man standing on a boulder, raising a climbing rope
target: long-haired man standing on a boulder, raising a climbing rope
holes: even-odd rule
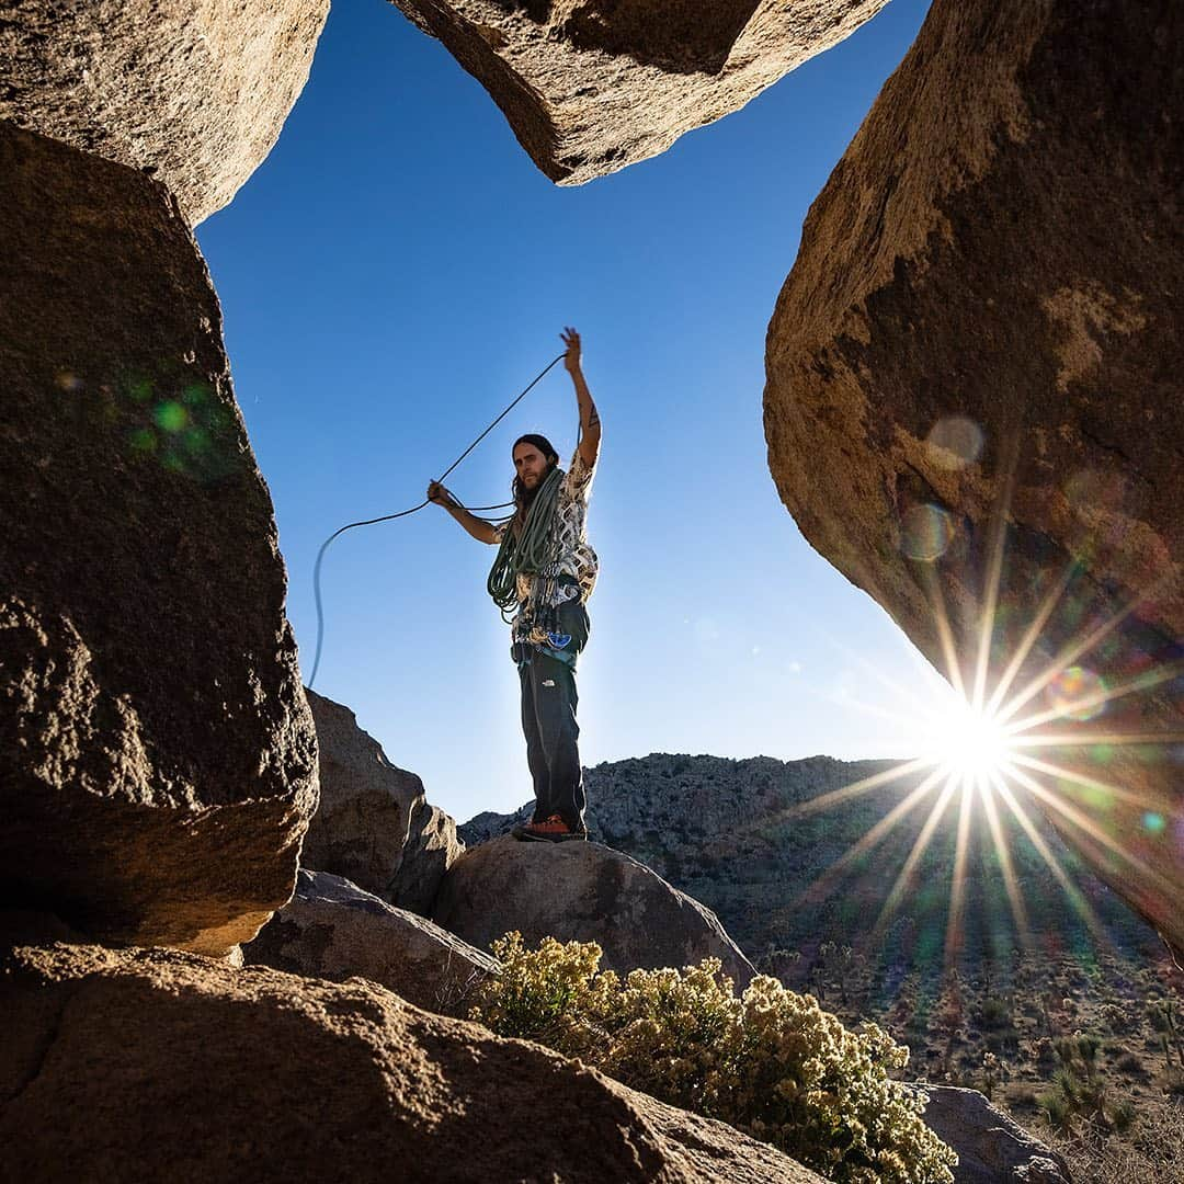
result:
[[[561,334],[564,366],[575,387],[580,436],[565,474],[545,436],[514,442],[514,515],[495,525],[470,514],[439,482],[427,497],[474,539],[498,547],[489,592],[510,620],[510,654],[522,689],[522,732],[534,780],[534,816],[517,838],[587,838],[586,800],[575,722],[575,662],[588,636],[585,605],[599,564],[585,533],[588,494],[600,452],[600,417],[580,369],[580,335]]]

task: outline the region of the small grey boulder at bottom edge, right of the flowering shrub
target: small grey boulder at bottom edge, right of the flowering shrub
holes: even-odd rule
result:
[[[920,1086],[926,1125],[958,1152],[954,1184],[1070,1184],[1064,1157],[996,1109],[977,1089]]]

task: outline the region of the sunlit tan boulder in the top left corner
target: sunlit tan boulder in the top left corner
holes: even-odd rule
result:
[[[143,169],[197,224],[271,150],[328,0],[12,0],[0,118]]]

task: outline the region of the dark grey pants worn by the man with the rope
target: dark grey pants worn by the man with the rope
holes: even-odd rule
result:
[[[587,639],[587,612],[579,603],[560,609],[561,628],[571,638],[565,652],[579,654]],[[534,780],[534,821],[559,815],[572,830],[584,829],[584,771],[580,767],[579,695],[575,670],[541,650],[523,646],[519,657],[522,684],[522,734]]]

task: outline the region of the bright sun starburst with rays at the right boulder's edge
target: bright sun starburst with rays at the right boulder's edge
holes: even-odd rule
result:
[[[1169,733],[1162,726],[1150,731],[1140,727],[1140,716],[1147,714],[1146,696],[1163,697],[1164,691],[1175,696],[1175,688],[1184,682],[1180,680],[1184,662],[1177,655],[1164,661],[1127,642],[1131,633],[1141,638],[1135,626],[1154,587],[1117,606],[1108,605],[1106,597],[1086,579],[1086,565],[1077,558],[1069,559],[1047,583],[1043,597],[1027,620],[1017,618],[1015,604],[1006,612],[1000,610],[1008,574],[1015,456],[1012,450],[1012,461],[1004,466],[1000,481],[1003,493],[989,525],[976,620],[966,619],[963,604],[955,628],[947,611],[939,568],[944,548],[954,538],[953,528],[927,529],[925,546],[903,548],[928,592],[933,635],[946,680],[940,707],[927,713],[918,755],[815,797],[791,811],[798,816],[812,815],[887,786],[908,786],[902,799],[799,896],[800,901],[818,901],[834,890],[852,866],[866,866],[870,852],[882,847],[906,818],[920,818],[928,807],[883,897],[873,944],[883,940],[908,899],[942,821],[955,815],[946,913],[947,964],[958,957],[961,946],[976,817],[985,819],[986,839],[1021,946],[1030,940],[1031,919],[1009,831],[1012,836],[1025,836],[1070,907],[1094,938],[1103,940],[1102,927],[1086,895],[1034,822],[1032,806],[1112,884],[1120,888],[1126,888],[1127,881],[1135,884],[1126,895],[1145,915],[1153,915],[1165,901],[1178,902],[1179,883],[1164,875],[1143,849],[1170,829],[1169,819],[1176,806],[1157,793],[1153,779],[1131,776],[1131,768],[1140,760],[1146,765],[1162,758],[1184,741],[1184,734]],[[906,519],[906,529],[907,526]],[[1083,547],[1082,553],[1088,549]],[[965,637],[973,638],[970,652],[959,644],[959,638]],[[908,702],[906,690],[894,686],[892,678],[879,673],[876,677],[899,693],[900,701],[907,704],[900,713],[900,722],[915,733],[918,704]],[[1178,701],[1176,710],[1179,712]],[[1122,818],[1140,819],[1143,834],[1134,836],[1135,842],[1131,828],[1111,824],[1109,819],[1120,811]],[[1176,823],[1184,837],[1184,823],[1179,819]]]

